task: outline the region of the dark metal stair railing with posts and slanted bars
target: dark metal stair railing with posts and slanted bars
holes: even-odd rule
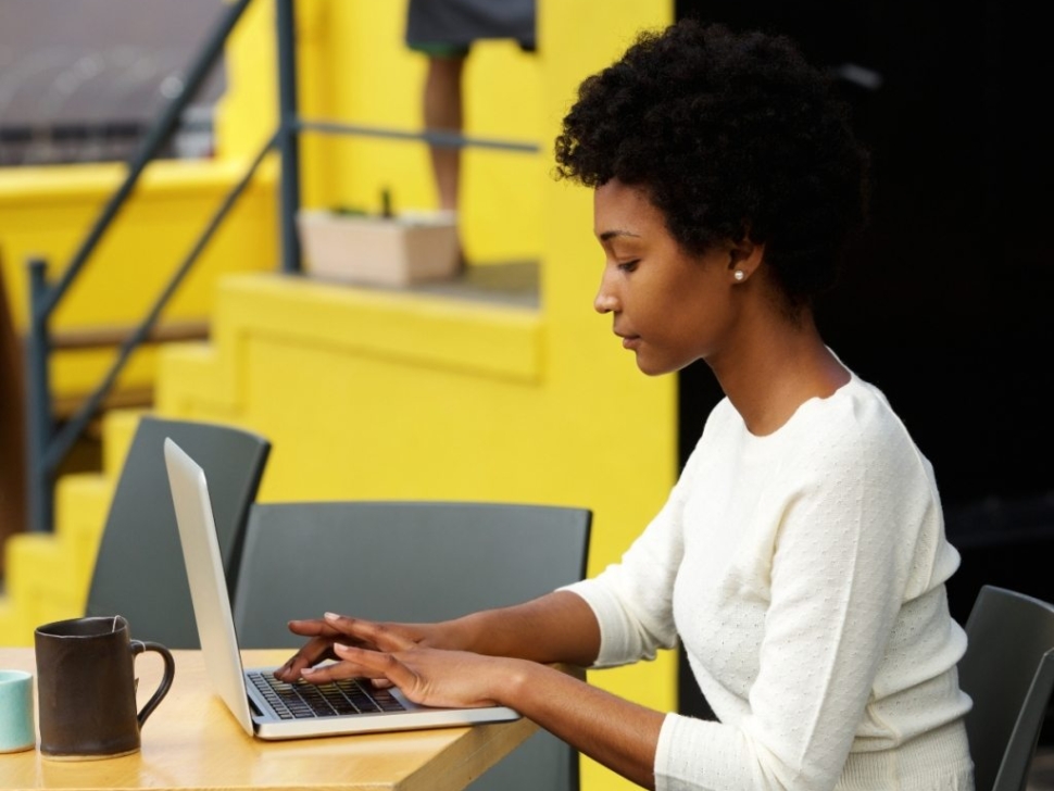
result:
[[[50,328],[52,314],[78,274],[86,266],[103,235],[131,197],[146,166],[155,159],[174,134],[184,110],[218,62],[228,36],[251,3],[252,0],[236,0],[226,7],[215,28],[187,70],[183,89],[172,97],[158,121],[147,133],[138,151],[128,163],[124,181],[103,206],[62,276],[54,284],[49,284],[47,262],[42,259],[34,259],[28,262],[30,304],[25,355],[28,416],[26,456],[29,486],[29,529],[32,531],[47,532],[53,530],[54,487],[60,465],[102,406],[104,399],[112,390],[117,376],[124,369],[133,352],[151,338],[161,312],[186,278],[219,224],[234,208],[235,202],[251,184],[256,170],[271,151],[276,150],[279,156],[279,241],[281,246],[281,268],[286,273],[298,273],[301,269],[296,219],[300,210],[299,136],[302,133],[380,137],[450,148],[491,148],[519,153],[538,153],[539,151],[539,147],[532,142],[470,138],[447,131],[406,131],[300,118],[297,109],[294,0],[275,0],[278,45],[277,130],[252,159],[244,175],[225,196],[206,223],[204,230],[201,231],[190,251],[176,267],[146,315],[123,340],[113,364],[103,375],[100,384],[83,401],[79,409],[59,428],[54,418],[52,390],[48,373],[48,361],[54,349],[53,340],[55,337]]]

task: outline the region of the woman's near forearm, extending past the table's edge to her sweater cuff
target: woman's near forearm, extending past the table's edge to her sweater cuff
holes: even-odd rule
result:
[[[498,703],[648,789],[665,715],[591,687],[545,665],[515,663],[494,691]]]

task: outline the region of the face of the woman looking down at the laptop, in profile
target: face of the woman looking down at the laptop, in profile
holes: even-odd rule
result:
[[[613,315],[643,373],[668,374],[720,351],[737,314],[730,246],[686,252],[647,192],[615,180],[594,192],[593,233],[605,256],[593,306]]]

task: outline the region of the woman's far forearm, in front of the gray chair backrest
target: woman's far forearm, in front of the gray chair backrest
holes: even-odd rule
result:
[[[600,652],[600,626],[592,610],[568,591],[473,613],[446,626],[457,643],[449,648],[489,656],[589,667]]]

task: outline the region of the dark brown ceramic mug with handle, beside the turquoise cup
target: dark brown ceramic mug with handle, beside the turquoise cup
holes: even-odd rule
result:
[[[40,752],[55,759],[111,758],[139,750],[139,731],[172,687],[176,663],[164,645],[133,640],[120,615],[71,618],[37,627]],[[136,657],[164,661],[164,677],[136,712]]]

